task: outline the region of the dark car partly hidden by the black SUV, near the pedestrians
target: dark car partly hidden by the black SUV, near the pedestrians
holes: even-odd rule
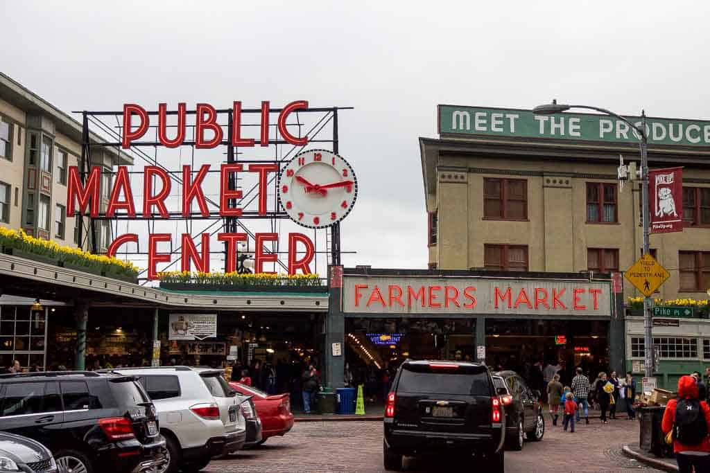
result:
[[[540,391],[532,391],[514,371],[493,373],[493,383],[506,409],[506,447],[523,450],[523,441],[542,440],[545,417],[542,416]]]

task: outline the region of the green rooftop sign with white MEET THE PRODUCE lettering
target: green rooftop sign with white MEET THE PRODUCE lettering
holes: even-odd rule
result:
[[[520,138],[638,143],[640,136],[628,123],[595,113],[536,115],[517,108],[439,105],[439,134],[494,135]],[[626,116],[641,124],[640,117]],[[710,121],[646,117],[650,145],[710,147]]]

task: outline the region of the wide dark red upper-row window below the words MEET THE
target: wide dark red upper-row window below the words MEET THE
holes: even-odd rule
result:
[[[528,181],[484,178],[484,218],[526,220]]]

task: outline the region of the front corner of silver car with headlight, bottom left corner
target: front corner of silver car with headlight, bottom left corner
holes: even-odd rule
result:
[[[0,432],[0,472],[65,473],[52,452],[31,438]]]

